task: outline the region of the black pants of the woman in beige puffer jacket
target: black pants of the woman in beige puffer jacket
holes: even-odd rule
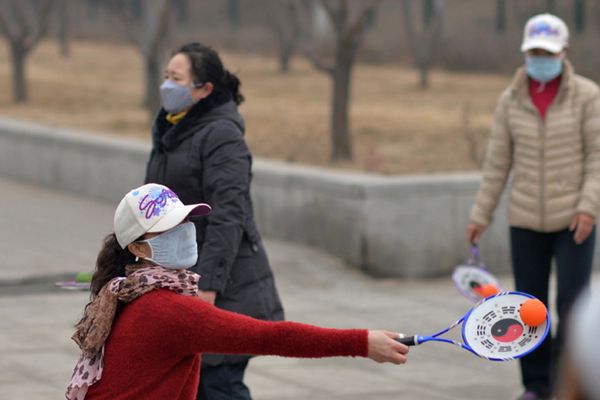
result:
[[[541,233],[528,229],[510,228],[510,242],[518,291],[529,293],[548,307],[548,286],[552,259],[556,261],[556,336],[548,335],[544,343],[523,357],[521,379],[527,390],[550,393],[553,390],[555,369],[565,340],[568,312],[578,294],[590,282],[592,258],[596,243],[595,229],[580,245],[573,240],[574,232]],[[550,307],[548,307],[550,309]]]

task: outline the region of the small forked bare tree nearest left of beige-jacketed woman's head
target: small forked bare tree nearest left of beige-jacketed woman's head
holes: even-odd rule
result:
[[[429,87],[429,70],[433,56],[442,36],[445,19],[444,0],[422,0],[423,22],[420,32],[415,26],[413,14],[414,0],[402,1],[404,14],[404,27],[408,37],[409,47],[419,68],[420,87],[425,90]]]

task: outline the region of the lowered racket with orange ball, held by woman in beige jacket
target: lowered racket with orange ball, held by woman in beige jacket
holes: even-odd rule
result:
[[[471,246],[471,257],[457,265],[452,280],[458,291],[472,301],[479,301],[501,291],[498,280],[489,273],[479,258],[479,248]]]

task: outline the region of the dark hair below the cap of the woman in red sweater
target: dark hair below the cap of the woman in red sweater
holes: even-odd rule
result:
[[[96,270],[92,276],[90,285],[92,299],[111,279],[125,276],[125,266],[134,262],[135,256],[127,248],[121,248],[114,233],[106,236],[102,242],[102,249],[98,253]]]

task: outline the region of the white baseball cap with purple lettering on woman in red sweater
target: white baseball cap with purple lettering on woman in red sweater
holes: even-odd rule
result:
[[[167,231],[188,217],[207,215],[205,203],[184,205],[168,187],[148,183],[123,197],[115,211],[114,229],[121,248],[149,232]]]

